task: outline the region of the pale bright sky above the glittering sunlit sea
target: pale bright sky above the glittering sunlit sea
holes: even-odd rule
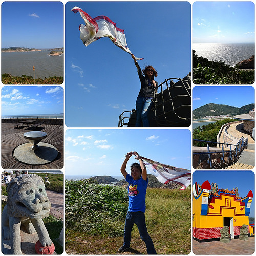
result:
[[[193,43],[254,42],[254,3],[197,1],[192,23]]]

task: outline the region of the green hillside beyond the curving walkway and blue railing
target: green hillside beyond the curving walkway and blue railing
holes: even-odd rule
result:
[[[220,115],[235,116],[240,114],[247,114],[252,109],[254,109],[253,103],[242,106],[241,108],[237,108],[236,106],[218,105],[214,103],[209,103],[204,106],[200,106],[200,108],[193,110],[192,116],[193,116],[193,119],[199,119],[205,116],[220,116]]]

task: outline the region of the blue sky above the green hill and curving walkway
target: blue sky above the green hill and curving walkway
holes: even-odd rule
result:
[[[192,90],[192,109],[215,103],[240,108],[255,103],[252,86],[196,86]]]

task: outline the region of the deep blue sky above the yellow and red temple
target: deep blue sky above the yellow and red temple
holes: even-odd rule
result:
[[[253,193],[253,199],[250,207],[249,217],[255,216],[255,190],[254,190],[254,173],[247,170],[214,170],[214,171],[196,171],[192,175],[192,183],[197,182],[202,185],[203,182],[208,180],[210,184],[216,182],[219,189],[232,190],[238,188],[240,197],[246,197],[251,190]]]

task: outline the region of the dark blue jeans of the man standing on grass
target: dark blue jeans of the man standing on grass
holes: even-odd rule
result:
[[[137,225],[140,233],[141,239],[146,244],[147,254],[157,254],[153,241],[147,232],[145,214],[142,211],[131,212],[128,211],[125,219],[124,235],[123,235],[123,245],[130,247],[130,242],[132,239],[132,229],[134,223]]]

